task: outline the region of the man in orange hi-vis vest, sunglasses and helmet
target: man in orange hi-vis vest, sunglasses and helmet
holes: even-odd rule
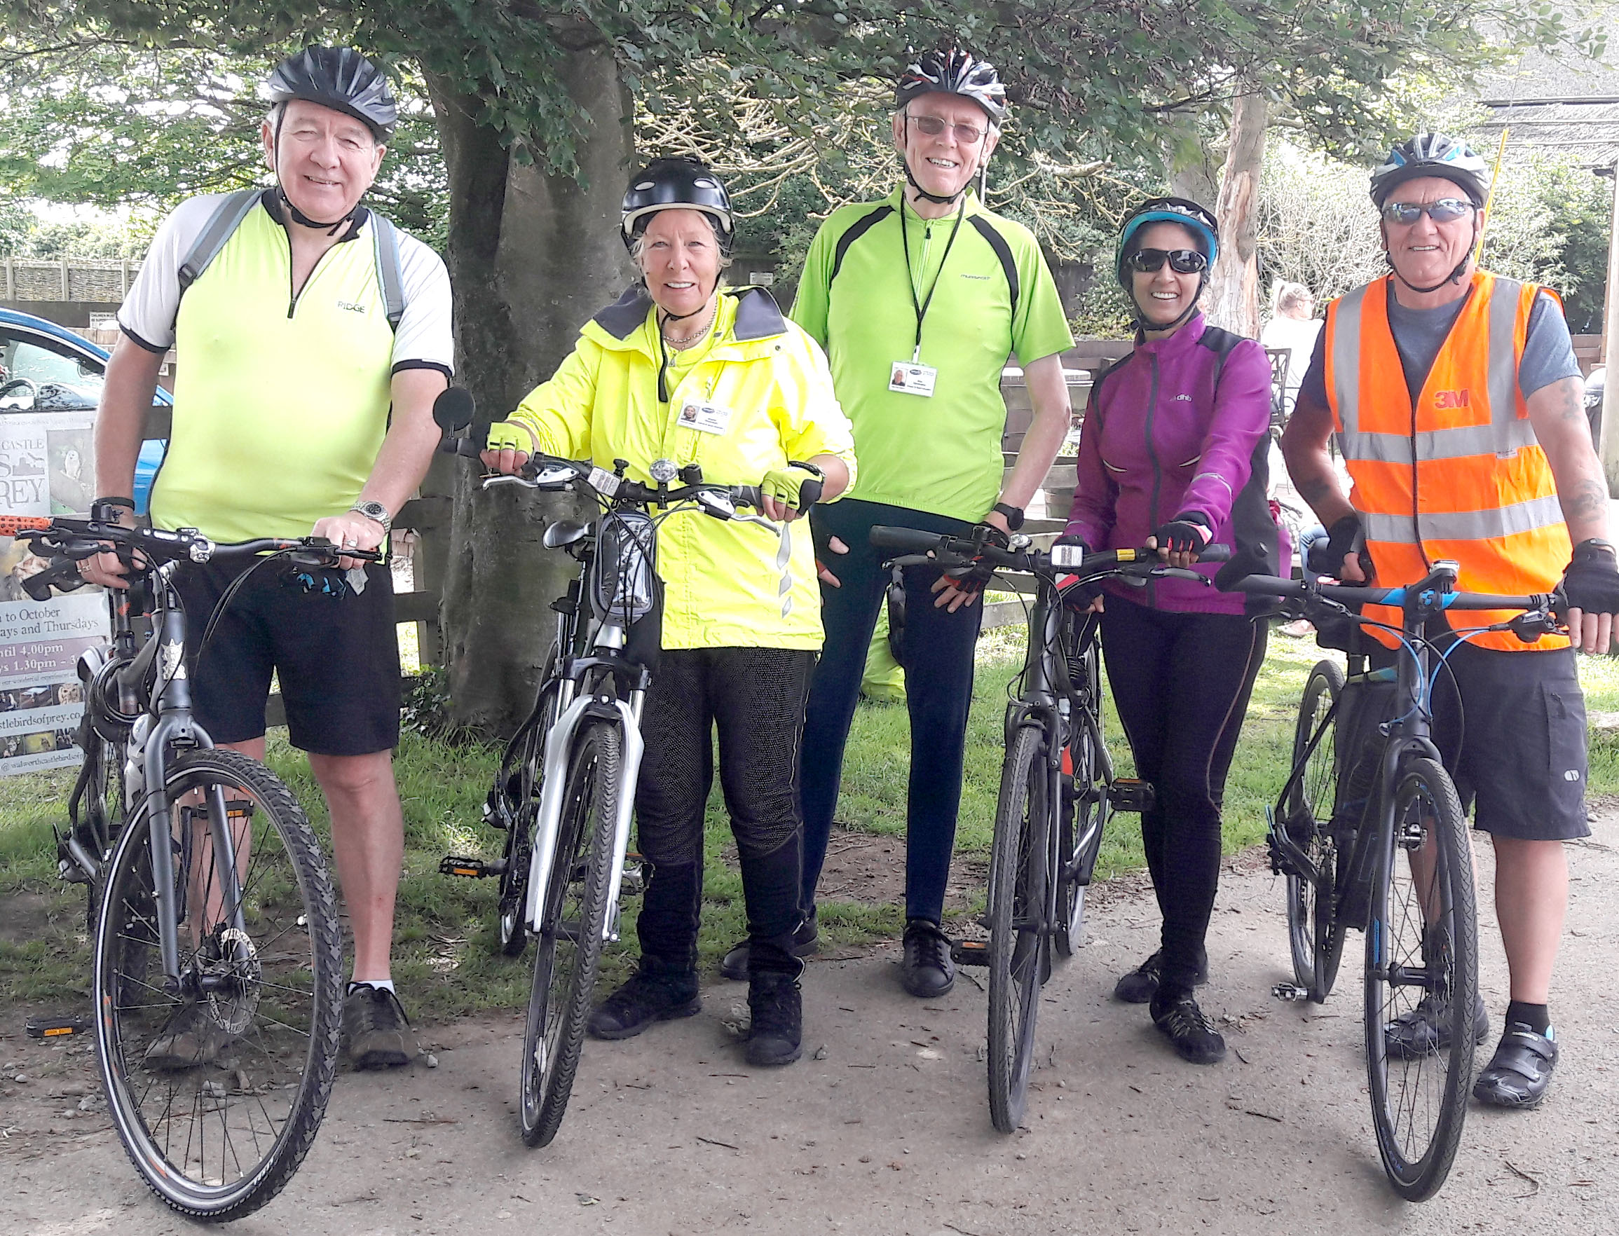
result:
[[[1438,133],[1402,142],[1373,171],[1391,273],[1328,307],[1282,455],[1345,582],[1417,582],[1441,558],[1460,565],[1468,592],[1549,592],[1561,579],[1572,646],[1606,652],[1619,568],[1580,370],[1556,294],[1473,264],[1485,173],[1483,159]],[[1334,434],[1349,495],[1328,455]],[[1376,616],[1399,623],[1397,610]],[[1439,647],[1451,642],[1441,633]],[[1433,701],[1433,738],[1496,851],[1512,990],[1473,1094],[1499,1107],[1540,1103],[1557,1063],[1548,998],[1569,899],[1562,843],[1590,833],[1574,647],[1511,633],[1464,641],[1447,657],[1455,689],[1441,684]],[[1441,1011],[1430,997],[1392,1022],[1389,1050],[1446,1047]],[[1483,1042],[1483,1000],[1475,1024]]]

